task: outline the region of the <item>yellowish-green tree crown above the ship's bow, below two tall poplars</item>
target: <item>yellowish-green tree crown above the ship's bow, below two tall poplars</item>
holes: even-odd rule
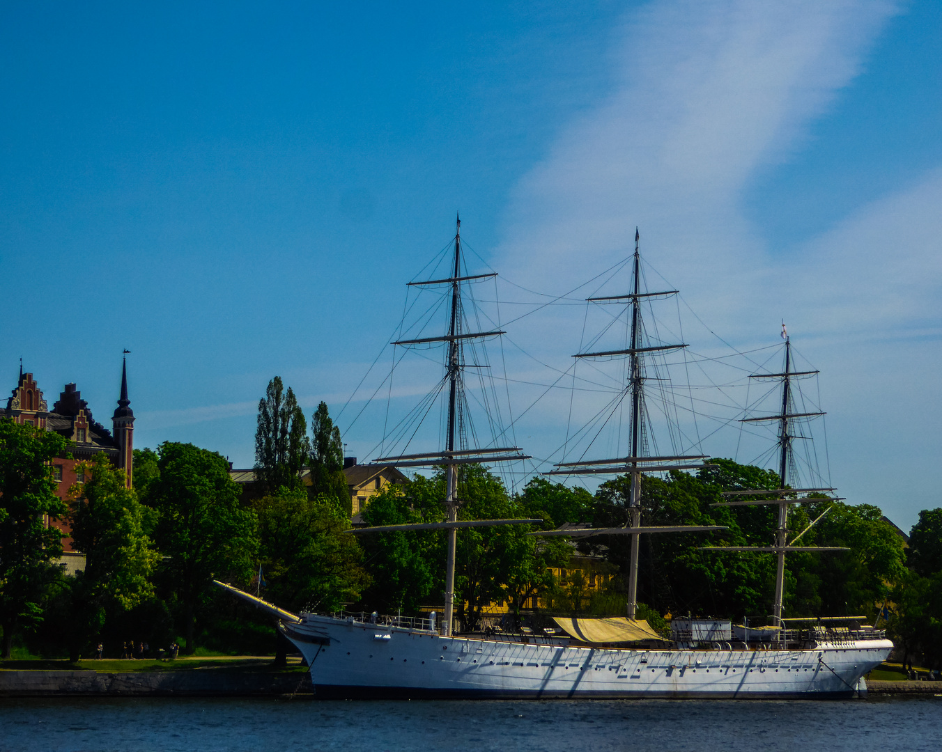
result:
[[[333,499],[282,488],[253,503],[267,598],[290,610],[334,611],[360,599],[368,583],[363,549]]]

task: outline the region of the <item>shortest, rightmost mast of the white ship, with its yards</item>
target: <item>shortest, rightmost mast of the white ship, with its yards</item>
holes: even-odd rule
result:
[[[749,496],[772,496],[776,498],[748,500],[748,501],[727,501],[720,504],[711,504],[712,506],[746,506],[777,504],[778,505],[778,524],[775,527],[774,545],[771,547],[761,546],[708,546],[704,551],[710,552],[774,552],[776,557],[775,567],[775,598],[772,601],[772,616],[776,624],[782,625],[782,613],[785,603],[785,554],[788,552],[800,551],[849,551],[847,548],[835,546],[795,546],[801,536],[811,529],[818,520],[814,520],[811,525],[802,531],[801,534],[792,538],[788,542],[788,507],[791,504],[810,504],[822,501],[840,501],[836,497],[805,496],[804,498],[787,498],[789,496],[797,497],[800,493],[826,493],[835,490],[835,488],[788,488],[788,471],[792,465],[792,440],[795,438],[791,433],[791,424],[802,418],[816,418],[824,415],[823,412],[792,412],[793,402],[791,399],[791,385],[796,378],[803,376],[817,376],[818,371],[794,371],[791,362],[791,341],[788,338],[788,330],[785,323],[782,323],[782,338],[785,340],[785,368],[780,374],[753,374],[750,378],[780,378],[782,380],[782,400],[778,415],[763,415],[756,418],[743,418],[740,423],[771,423],[778,422],[778,478],[779,484],[776,490],[762,488],[750,488],[736,491],[725,491],[725,497],[737,497],[743,495]],[[830,508],[830,507],[829,507]],[[825,510],[824,514],[827,514]]]

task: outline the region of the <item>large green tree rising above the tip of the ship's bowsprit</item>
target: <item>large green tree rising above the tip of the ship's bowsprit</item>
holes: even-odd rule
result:
[[[247,580],[256,561],[255,514],[239,503],[239,488],[223,456],[193,444],[157,447],[160,477],[149,497],[158,514],[155,539],[163,570],[192,652],[196,623],[210,602],[213,579]]]

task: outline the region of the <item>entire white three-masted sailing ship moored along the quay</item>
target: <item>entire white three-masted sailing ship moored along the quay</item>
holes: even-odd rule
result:
[[[642,523],[642,483],[645,475],[706,467],[702,454],[650,454],[645,440],[645,358],[654,353],[683,348],[685,344],[651,343],[643,339],[642,301],[671,296],[676,291],[651,293],[642,288],[639,234],[631,258],[632,280],[624,294],[590,298],[593,303],[625,306],[630,330],[626,346],[577,354],[579,359],[623,359],[626,362],[624,398],[629,410],[627,436],[630,454],[609,458],[584,458],[560,462],[552,475],[630,476],[627,521],[620,527],[538,531],[534,536],[628,536],[627,608],[623,617],[557,619],[563,632],[545,630],[515,634],[452,633],[456,540],[462,528],[539,524],[542,520],[459,520],[461,504],[458,469],[469,463],[506,463],[527,459],[516,446],[469,446],[463,416],[466,368],[465,344],[499,337],[498,328],[470,326],[463,315],[463,285],[495,276],[471,275],[463,266],[461,221],[457,223],[447,277],[411,282],[447,290],[447,333],[436,337],[400,339],[394,344],[444,345],[445,377],[441,391],[447,409],[444,446],[427,453],[382,456],[385,465],[409,468],[442,468],[446,479],[443,499],[446,520],[407,525],[360,528],[353,533],[444,530],[447,564],[444,615],[428,617],[364,614],[292,614],[277,605],[217,582],[219,587],[251,602],[278,620],[279,629],[303,655],[310,667],[318,697],[324,698],[841,698],[866,694],[864,676],[881,664],[893,644],[883,632],[859,622],[813,623],[789,621],[782,616],[785,589],[785,557],[788,552],[840,551],[797,545],[807,529],[788,539],[788,509],[793,504],[820,503],[834,488],[789,488],[793,426],[814,417],[796,412],[792,400],[794,379],[810,372],[792,367],[791,349],[785,343],[785,367],[777,374],[755,378],[781,381],[780,410],[768,416],[742,419],[778,425],[780,488],[741,488],[728,491],[723,505],[774,504],[778,525],[772,545],[747,548],[703,546],[710,552],[773,552],[776,555],[774,614],[771,626],[738,627],[718,619],[677,619],[670,638],[653,631],[638,616],[637,587],[642,536],[664,533],[711,534],[723,526],[652,526]],[[784,332],[784,328],[783,328]],[[426,408],[428,411],[428,408]],[[501,434],[497,434],[499,438]],[[503,443],[507,443],[506,441]],[[815,494],[810,496],[809,494]],[[816,520],[817,521],[817,520]],[[812,523],[814,524],[814,523]]]

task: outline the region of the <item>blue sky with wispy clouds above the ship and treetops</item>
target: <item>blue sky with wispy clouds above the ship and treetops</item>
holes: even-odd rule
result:
[[[736,348],[787,321],[822,372],[842,495],[904,527],[942,504],[938,4],[4,3],[0,20],[9,388],[22,356],[102,420],[127,347],[138,445],[248,466],[268,379],[339,411],[456,210],[488,264],[552,294],[639,225]],[[512,336],[568,368],[578,311]],[[531,454],[560,444],[563,402],[520,424]],[[350,453],[379,433],[366,416]]]

